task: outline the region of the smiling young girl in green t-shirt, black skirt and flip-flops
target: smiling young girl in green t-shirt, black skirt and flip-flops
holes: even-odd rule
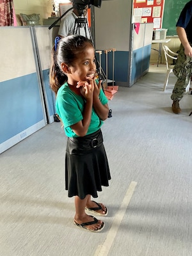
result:
[[[108,209],[91,200],[111,179],[100,130],[108,118],[108,99],[97,83],[95,49],[84,36],[62,38],[52,49],[50,84],[56,93],[56,112],[68,137],[65,154],[65,188],[75,196],[74,224],[93,232],[104,222],[87,212],[106,216]],[[85,211],[86,210],[86,211]]]

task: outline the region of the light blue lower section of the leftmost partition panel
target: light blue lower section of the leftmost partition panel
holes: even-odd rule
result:
[[[44,119],[36,73],[0,83],[0,143]]]

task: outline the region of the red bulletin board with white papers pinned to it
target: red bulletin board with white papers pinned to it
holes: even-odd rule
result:
[[[133,23],[154,23],[154,29],[161,29],[164,1],[165,0],[134,0]]]

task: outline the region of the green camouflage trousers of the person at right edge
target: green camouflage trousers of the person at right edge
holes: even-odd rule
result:
[[[173,88],[171,95],[172,100],[182,99],[192,74],[192,58],[184,54],[184,47],[182,44],[180,45],[178,53],[179,55],[173,68],[173,73],[178,79]]]

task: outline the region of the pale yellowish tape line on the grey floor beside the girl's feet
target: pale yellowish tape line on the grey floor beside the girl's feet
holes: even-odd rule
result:
[[[113,220],[113,223],[111,225],[111,228],[109,229],[108,236],[106,237],[106,240],[103,244],[99,244],[97,247],[97,250],[94,254],[94,256],[107,256],[111,246],[113,244],[113,241],[116,237],[116,234],[118,232],[118,228],[120,227],[120,224],[122,223],[122,220],[125,215],[125,211],[129,205],[129,202],[131,201],[132,195],[134,193],[134,189],[136,188],[137,182],[132,181],[129,184],[129,188],[127,189],[127,193],[124,196],[124,200],[120,206],[120,209],[115,214],[115,218]]]

